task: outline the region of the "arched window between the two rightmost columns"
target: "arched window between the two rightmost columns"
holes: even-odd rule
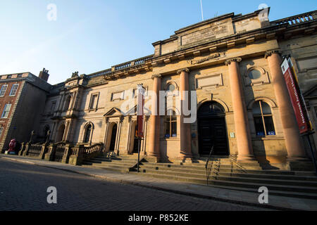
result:
[[[256,136],[275,135],[271,107],[263,101],[256,101],[252,108]]]

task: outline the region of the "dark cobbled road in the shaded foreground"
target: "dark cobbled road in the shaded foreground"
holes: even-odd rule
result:
[[[57,204],[46,192],[57,188]],[[0,210],[215,211],[259,208],[117,184],[0,158]]]

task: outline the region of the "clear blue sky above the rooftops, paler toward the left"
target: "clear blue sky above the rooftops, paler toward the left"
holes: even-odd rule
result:
[[[225,13],[247,14],[260,4],[270,20],[317,9],[316,0],[202,0],[204,19]],[[57,20],[46,18],[49,4]],[[49,83],[72,72],[90,74],[154,53],[151,43],[201,21],[199,0],[0,0],[0,75],[39,74]]]

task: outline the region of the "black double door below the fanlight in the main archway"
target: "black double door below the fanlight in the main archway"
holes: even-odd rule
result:
[[[199,154],[229,155],[225,117],[199,118]]]

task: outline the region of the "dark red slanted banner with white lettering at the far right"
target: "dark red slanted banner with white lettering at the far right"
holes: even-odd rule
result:
[[[299,90],[297,76],[290,58],[285,58],[281,68],[288,93],[290,94],[292,106],[294,108],[297,124],[299,126],[299,132],[300,134],[304,134],[308,131],[311,131],[311,123],[309,122],[305,101],[301,91]]]

